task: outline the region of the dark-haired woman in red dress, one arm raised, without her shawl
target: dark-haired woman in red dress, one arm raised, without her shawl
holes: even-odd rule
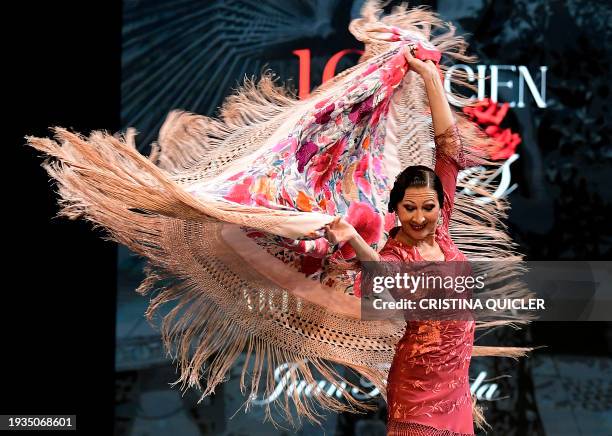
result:
[[[348,241],[360,261],[463,261],[449,235],[457,174],[465,165],[461,140],[437,67],[404,55],[424,80],[436,142],[435,172],[406,168],[390,195],[401,223],[376,252],[343,218],[326,226],[331,243]],[[388,434],[473,435],[468,368],[474,321],[408,321],[389,371]]]

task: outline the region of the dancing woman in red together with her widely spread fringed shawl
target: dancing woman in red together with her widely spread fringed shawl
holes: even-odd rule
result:
[[[528,351],[473,345],[474,331],[510,321],[362,320],[356,273],[364,260],[520,261],[503,203],[455,197],[461,168],[494,165],[491,140],[450,108],[440,79],[446,63],[473,59],[422,9],[382,16],[369,1],[349,30],[365,44],[360,62],[309,98],[267,75],[247,81],[219,118],[171,112],[149,156],[133,129],[26,139],[47,155],[60,214],[147,260],[137,292],[152,295],[151,322],[172,306],[161,334],[174,384],[204,398],[241,362],[245,411],[264,407],[273,422],[272,405],[320,422],[320,407],[372,410],[363,394],[380,392],[389,434],[473,434],[484,421],[470,358]]]

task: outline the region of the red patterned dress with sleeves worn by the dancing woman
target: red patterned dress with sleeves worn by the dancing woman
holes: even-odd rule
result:
[[[453,126],[436,137],[435,172],[444,187],[443,223],[436,241],[446,261],[466,261],[449,235],[457,174],[464,167],[461,141]],[[381,260],[425,261],[416,247],[390,232]],[[474,343],[474,321],[407,321],[396,345],[387,380],[388,435],[473,435],[468,369]]]

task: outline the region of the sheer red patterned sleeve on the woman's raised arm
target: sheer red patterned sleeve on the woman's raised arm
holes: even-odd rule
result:
[[[455,190],[457,187],[457,174],[466,167],[461,136],[456,124],[453,124],[443,133],[434,137],[436,143],[435,172],[442,181],[444,188],[444,206],[442,207],[442,225],[448,228],[450,216],[453,211]]]

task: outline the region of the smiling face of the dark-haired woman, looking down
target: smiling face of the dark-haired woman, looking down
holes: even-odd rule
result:
[[[426,186],[406,188],[404,197],[397,203],[396,211],[402,231],[415,241],[435,233],[440,203],[433,189]]]

